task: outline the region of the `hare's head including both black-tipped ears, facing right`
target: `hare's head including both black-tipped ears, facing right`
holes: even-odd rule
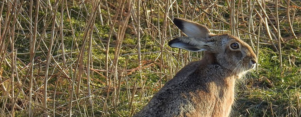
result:
[[[187,19],[175,18],[173,22],[188,37],[172,39],[168,42],[170,47],[193,52],[206,51],[213,56],[209,59],[214,59],[214,64],[219,64],[236,75],[255,68],[257,57],[252,48],[237,37],[212,34],[206,26]]]

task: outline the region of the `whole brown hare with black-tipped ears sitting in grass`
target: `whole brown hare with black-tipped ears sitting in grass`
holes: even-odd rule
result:
[[[229,34],[213,34],[197,22],[174,18],[188,37],[168,42],[173,48],[204,51],[199,61],[183,67],[133,117],[228,117],[235,80],[255,68],[252,48]]]

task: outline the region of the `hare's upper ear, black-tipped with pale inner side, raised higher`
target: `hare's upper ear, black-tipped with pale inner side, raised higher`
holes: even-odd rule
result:
[[[174,18],[173,23],[188,37],[200,37],[206,39],[211,35],[211,32],[206,26],[188,19]]]

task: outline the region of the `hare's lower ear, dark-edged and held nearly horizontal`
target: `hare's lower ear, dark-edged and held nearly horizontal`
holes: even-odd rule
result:
[[[181,48],[188,51],[209,51],[212,43],[204,38],[196,37],[178,37],[168,42],[168,45],[173,48]]]

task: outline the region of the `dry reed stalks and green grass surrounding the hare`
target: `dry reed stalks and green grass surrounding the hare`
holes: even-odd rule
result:
[[[234,117],[301,116],[299,0],[1,0],[0,116],[132,116],[201,52],[181,17],[252,45]]]

